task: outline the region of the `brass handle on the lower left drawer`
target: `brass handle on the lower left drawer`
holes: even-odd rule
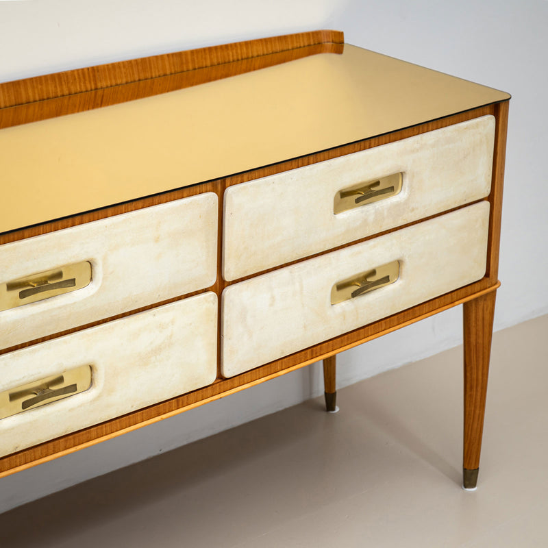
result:
[[[88,390],[91,367],[82,365],[0,393],[0,419]]]

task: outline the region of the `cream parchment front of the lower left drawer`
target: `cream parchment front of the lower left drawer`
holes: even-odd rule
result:
[[[91,386],[0,419],[0,455],[212,383],[216,328],[217,298],[206,292],[3,354],[0,393],[7,390],[21,407],[34,402],[20,387],[60,379],[82,366],[90,366]],[[42,393],[50,388],[55,390],[55,383],[43,386]]]

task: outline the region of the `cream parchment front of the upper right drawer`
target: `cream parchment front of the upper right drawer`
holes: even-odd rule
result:
[[[483,116],[225,192],[223,276],[232,280],[489,194],[495,119]],[[340,190],[403,173],[401,191],[334,213]]]

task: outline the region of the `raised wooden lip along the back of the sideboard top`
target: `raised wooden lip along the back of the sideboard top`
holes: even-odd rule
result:
[[[21,107],[50,99],[61,99],[86,92],[98,92],[116,86],[137,84],[151,79],[201,69],[211,69],[223,64],[253,60],[276,53],[328,45],[344,45],[343,32],[317,30],[273,36],[271,38],[230,42],[225,45],[161,53],[145,58],[103,63],[80,69],[12,80],[0,83],[0,113],[1,110],[7,108]],[[329,49],[329,47],[323,49],[325,49],[325,53],[340,53]],[[321,51],[314,51],[313,53],[321,53]],[[173,64],[171,70],[169,69],[170,64]],[[139,70],[137,71],[137,69]],[[60,92],[60,86],[64,86],[66,90]],[[31,90],[35,94],[34,98]]]

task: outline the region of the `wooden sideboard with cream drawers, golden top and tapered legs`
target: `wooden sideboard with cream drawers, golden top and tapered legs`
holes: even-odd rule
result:
[[[509,99],[334,31],[0,84],[0,477],[463,304],[475,488]]]

